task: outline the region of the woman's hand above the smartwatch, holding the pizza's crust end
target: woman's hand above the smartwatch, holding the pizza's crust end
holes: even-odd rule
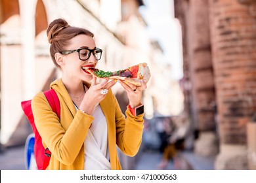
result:
[[[121,86],[123,86],[123,88],[127,92],[127,97],[129,99],[129,105],[131,106],[131,108],[139,107],[139,105],[142,104],[142,91],[145,90],[147,86],[144,80],[140,81],[141,86],[136,86],[135,84],[118,80],[118,82],[121,84]]]

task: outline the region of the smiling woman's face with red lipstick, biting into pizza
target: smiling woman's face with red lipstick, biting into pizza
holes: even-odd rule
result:
[[[90,50],[95,49],[96,45],[93,37],[77,35],[70,40],[70,44],[67,46],[66,50],[77,50],[79,48],[88,48]],[[83,54],[82,51],[80,51],[80,55],[81,54]],[[82,58],[83,56],[80,57]],[[83,61],[79,59],[78,52],[63,55],[63,61],[64,63],[61,67],[62,73],[65,76],[68,76],[72,80],[84,80],[87,82],[91,81],[93,76],[90,73],[85,72],[82,68],[96,67],[96,64],[98,63],[93,56],[93,53],[91,53],[89,59]]]

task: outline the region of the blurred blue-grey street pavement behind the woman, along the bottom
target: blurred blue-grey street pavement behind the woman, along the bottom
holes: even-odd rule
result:
[[[195,170],[212,170],[214,165],[214,157],[202,157],[194,154],[191,151],[184,151],[181,153],[182,169]],[[161,161],[161,154],[158,151],[143,151],[139,152],[136,158],[135,170],[158,170],[158,164]],[[14,146],[5,149],[0,153],[0,169],[1,170],[24,170],[24,146]],[[173,163],[170,161],[167,169],[175,169]]]

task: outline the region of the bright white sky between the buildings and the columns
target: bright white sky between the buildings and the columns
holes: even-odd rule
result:
[[[174,79],[182,78],[181,25],[174,17],[173,0],[144,0],[140,13],[148,24],[148,34],[160,42],[164,58],[172,65]]]

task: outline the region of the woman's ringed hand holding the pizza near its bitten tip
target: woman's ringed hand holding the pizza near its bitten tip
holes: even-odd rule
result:
[[[112,88],[112,86],[114,86],[117,82],[117,80],[109,81],[108,79],[105,79],[99,84],[97,84],[96,79],[97,78],[93,76],[91,87],[85,93],[83,101],[79,106],[80,110],[83,110],[85,113],[89,115],[93,114],[95,106],[106,97],[106,94],[101,94],[100,92],[103,89],[110,90],[110,88]]]

